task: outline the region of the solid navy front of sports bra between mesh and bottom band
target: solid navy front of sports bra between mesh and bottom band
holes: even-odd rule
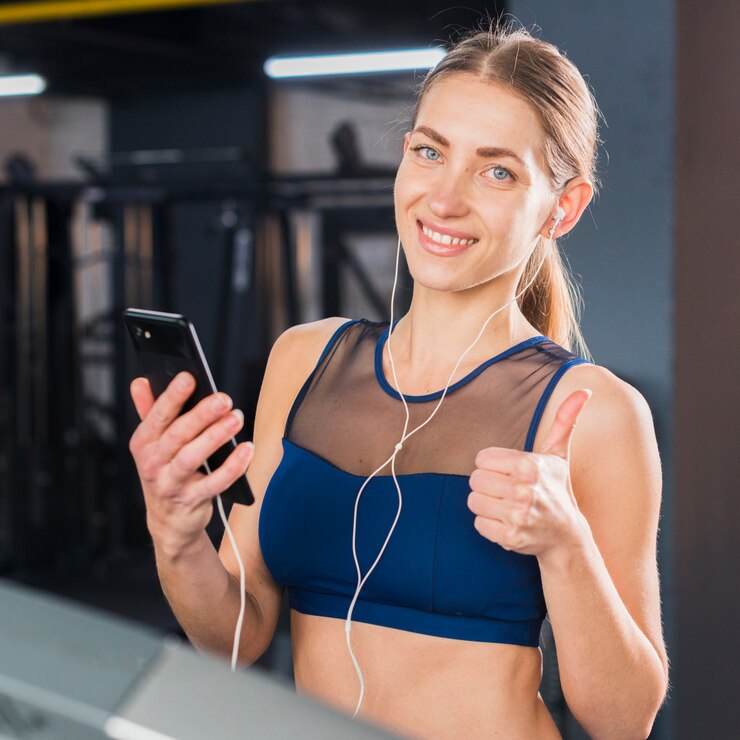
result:
[[[399,475],[399,494],[390,475],[362,488],[364,476],[286,440],[283,448],[260,516],[263,556],[279,583],[351,597],[357,583],[353,530],[364,575],[395,521],[362,599],[467,617],[527,619],[540,612],[536,558],[478,534],[467,507],[467,476]]]

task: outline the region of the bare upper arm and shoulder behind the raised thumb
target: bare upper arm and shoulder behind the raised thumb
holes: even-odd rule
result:
[[[652,413],[635,388],[605,368],[577,365],[556,387],[538,439],[579,388],[593,395],[573,431],[573,493],[622,602],[667,674],[657,565],[662,471]]]

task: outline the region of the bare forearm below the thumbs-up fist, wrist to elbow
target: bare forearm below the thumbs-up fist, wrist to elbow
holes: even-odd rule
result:
[[[585,518],[576,544],[539,561],[571,711],[594,738],[647,737],[665,696],[665,671],[624,606]]]

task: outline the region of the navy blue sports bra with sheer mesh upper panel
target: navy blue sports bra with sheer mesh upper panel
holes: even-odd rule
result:
[[[403,403],[383,372],[388,322],[343,324],[293,403],[283,458],[260,513],[262,554],[291,608],[344,619],[356,587],[352,517],[365,479],[393,452]],[[538,336],[450,386],[432,421],[396,457],[403,508],[353,620],[439,637],[536,647],[546,614],[537,558],[504,550],[473,527],[468,478],[485,447],[531,451],[553,388],[587,362]],[[409,430],[442,391],[406,396]],[[365,488],[357,553],[363,574],[391,527],[390,466]]]

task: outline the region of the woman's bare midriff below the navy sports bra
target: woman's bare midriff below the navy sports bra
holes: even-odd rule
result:
[[[344,620],[291,611],[300,693],[353,714],[360,684]],[[468,642],[352,623],[361,718],[416,738],[560,738],[539,695],[539,648]]]

